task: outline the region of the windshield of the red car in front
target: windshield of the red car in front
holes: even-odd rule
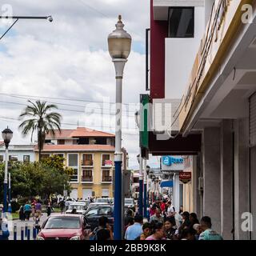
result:
[[[49,218],[45,229],[79,229],[81,226],[79,218]]]

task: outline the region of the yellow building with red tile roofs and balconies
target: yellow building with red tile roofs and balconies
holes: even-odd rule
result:
[[[78,127],[48,134],[42,158],[58,154],[74,169],[70,197],[113,197],[114,134]],[[36,150],[38,160],[38,150]]]

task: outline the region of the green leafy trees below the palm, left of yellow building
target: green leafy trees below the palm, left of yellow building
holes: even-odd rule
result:
[[[12,162],[10,166],[12,198],[49,198],[50,194],[62,194],[64,185],[70,190],[70,176],[66,168],[58,168],[58,162]],[[0,200],[3,193],[4,165],[0,165]],[[21,203],[21,202],[19,202]]]

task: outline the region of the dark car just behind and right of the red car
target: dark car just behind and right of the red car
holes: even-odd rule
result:
[[[101,205],[92,206],[86,210],[86,221],[89,223],[91,230],[94,230],[98,226],[98,218],[106,216],[109,219],[111,226],[114,224],[114,206],[111,205]]]

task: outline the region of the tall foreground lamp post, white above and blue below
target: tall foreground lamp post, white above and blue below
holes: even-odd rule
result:
[[[123,30],[122,16],[118,16],[116,30],[108,36],[110,56],[116,73],[116,122],[114,153],[114,239],[122,239],[122,75],[130,54],[131,37]]]

